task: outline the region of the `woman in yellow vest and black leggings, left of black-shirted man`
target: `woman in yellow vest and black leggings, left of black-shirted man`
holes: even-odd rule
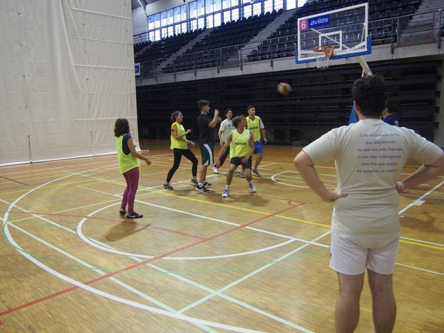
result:
[[[191,182],[194,185],[198,185],[198,180],[196,179],[197,158],[187,146],[187,144],[191,144],[192,146],[194,146],[194,142],[187,140],[187,134],[191,133],[191,130],[185,130],[185,128],[183,128],[181,124],[182,120],[182,112],[176,111],[171,113],[171,121],[173,121],[173,124],[171,125],[171,149],[173,150],[174,154],[174,162],[173,167],[171,167],[171,169],[168,171],[167,180],[165,180],[164,182],[164,189],[173,189],[169,182],[180,166],[182,155],[187,157],[187,159],[190,160],[193,164],[193,167],[191,167],[191,174],[193,176],[193,178],[191,178]]]

